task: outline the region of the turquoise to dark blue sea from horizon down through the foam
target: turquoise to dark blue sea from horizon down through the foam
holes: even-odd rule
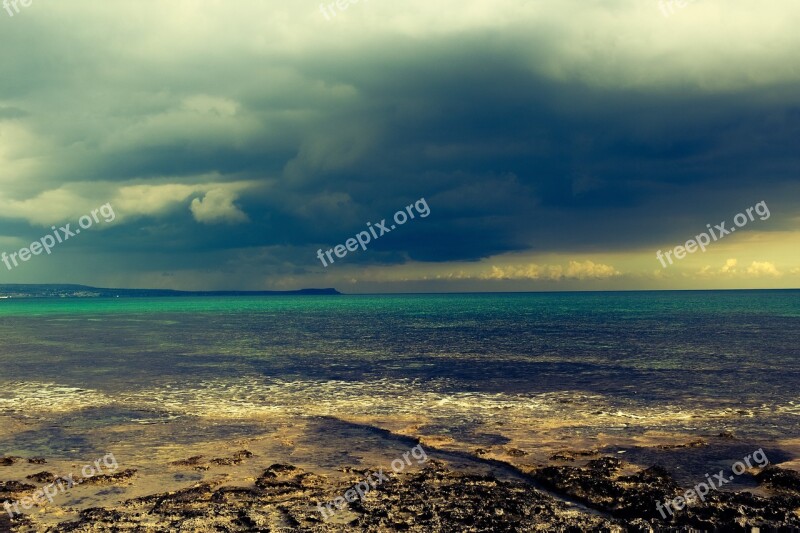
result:
[[[0,300],[0,415],[61,430],[403,417],[470,446],[526,428],[797,437],[798,296]]]

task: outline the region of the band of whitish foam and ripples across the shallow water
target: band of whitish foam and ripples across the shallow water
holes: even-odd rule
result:
[[[77,414],[98,407],[159,413],[157,420],[173,417],[253,419],[331,416],[344,420],[391,417],[417,419],[420,424],[517,427],[584,427],[612,429],[638,426],[714,427],[724,421],[764,419],[800,414],[800,405],[762,404],[708,408],[702,403],[652,405],[632,400],[560,391],[538,394],[438,392],[446,380],[379,379],[348,381],[282,381],[259,378],[205,380],[191,385],[180,382],[136,391],[107,393],[52,382],[11,382],[0,388],[0,414],[26,417]],[[153,423],[152,418],[133,420]]]

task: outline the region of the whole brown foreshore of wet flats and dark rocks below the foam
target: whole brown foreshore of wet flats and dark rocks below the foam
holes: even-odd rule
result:
[[[149,463],[126,464],[126,453],[116,452],[124,476],[74,487],[54,504],[13,520],[3,513],[0,531],[480,530],[470,529],[473,523],[508,531],[800,528],[800,473],[785,467],[796,465],[794,454],[776,443],[761,446],[770,464],[747,469],[737,483],[676,511],[670,522],[658,516],[656,503],[692,486],[676,478],[703,481],[689,472],[730,466],[742,450],[759,446],[732,434],[705,435],[625,450],[565,447],[542,461],[526,450],[501,446],[468,453],[341,420],[312,422],[318,425],[276,427],[224,445],[173,446]],[[318,432],[329,432],[330,444],[311,449]],[[350,445],[345,452],[337,451],[342,443]],[[319,503],[333,501],[415,444],[429,461],[322,519]],[[28,459],[33,457],[0,458],[0,504],[40,488],[28,476],[45,480],[79,464]]]

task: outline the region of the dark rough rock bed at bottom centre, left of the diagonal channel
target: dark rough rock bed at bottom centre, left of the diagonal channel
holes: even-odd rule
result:
[[[434,461],[378,485],[326,521],[316,505],[349,486],[274,464],[255,485],[202,483],[129,500],[117,509],[87,509],[51,531],[621,531],[613,521],[576,512],[528,483],[452,472]]]

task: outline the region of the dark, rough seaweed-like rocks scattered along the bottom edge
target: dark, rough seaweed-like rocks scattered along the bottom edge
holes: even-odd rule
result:
[[[333,479],[276,463],[263,467],[256,479],[188,483],[119,505],[86,508],[77,518],[54,525],[45,526],[36,513],[13,519],[2,514],[0,531],[800,531],[800,474],[794,470],[773,465],[749,469],[742,476],[748,490],[712,491],[705,502],[665,520],[655,503],[690,488],[681,486],[667,468],[643,468],[641,462],[597,451],[564,450],[551,459],[551,464],[539,466],[507,463],[503,466],[516,479],[501,480],[432,458],[424,468],[394,476],[328,520],[317,503],[341,495],[368,470],[342,468],[341,478]],[[259,460],[241,450],[230,457],[189,457],[171,466],[202,472]],[[495,467],[500,463],[476,460]],[[2,465],[18,462],[47,466],[42,458],[0,458],[0,480],[5,479]],[[0,504],[30,496],[35,483],[54,474],[45,469],[27,477],[0,481]],[[126,470],[92,483],[114,494],[115,487],[137,483],[137,473]]]

